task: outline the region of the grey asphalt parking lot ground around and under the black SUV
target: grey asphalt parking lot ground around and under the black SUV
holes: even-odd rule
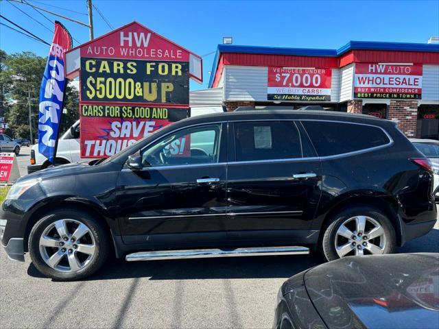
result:
[[[18,158],[24,173],[25,151]],[[439,252],[439,230],[397,252]],[[88,280],[53,282],[29,257],[12,262],[2,249],[0,328],[269,328],[281,284],[322,261],[317,254],[113,259]]]

